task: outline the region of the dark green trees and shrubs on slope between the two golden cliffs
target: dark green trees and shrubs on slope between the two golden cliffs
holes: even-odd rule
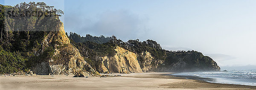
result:
[[[66,33],[67,35],[67,33]],[[92,68],[98,68],[97,58],[101,56],[114,56],[116,45],[109,42],[113,37],[93,37],[87,34],[86,37],[81,37],[79,34],[70,32],[68,36],[72,45],[74,45],[84,60],[91,65]]]

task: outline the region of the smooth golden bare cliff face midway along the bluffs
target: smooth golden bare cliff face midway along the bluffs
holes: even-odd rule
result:
[[[99,62],[100,73],[142,73],[137,55],[119,46],[114,56],[103,56]]]

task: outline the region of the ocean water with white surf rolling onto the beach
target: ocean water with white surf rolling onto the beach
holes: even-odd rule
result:
[[[188,79],[204,80],[212,83],[241,84],[256,86],[256,70],[232,70],[228,72],[174,73],[172,75]],[[195,78],[198,77],[198,78]]]

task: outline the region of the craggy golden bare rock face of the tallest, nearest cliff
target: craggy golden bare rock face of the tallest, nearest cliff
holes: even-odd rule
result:
[[[65,34],[64,25],[62,22],[56,25],[55,28],[45,37],[43,42],[44,52],[47,47],[53,47],[55,52],[50,59],[38,63],[34,67],[35,73],[39,75],[68,75],[77,72],[94,76],[99,73],[84,61],[79,50],[70,44],[70,40]]]

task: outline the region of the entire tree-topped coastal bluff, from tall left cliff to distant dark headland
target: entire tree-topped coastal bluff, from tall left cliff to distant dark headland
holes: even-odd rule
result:
[[[58,15],[14,17],[5,11],[27,8],[1,5],[0,73],[99,76],[99,73],[219,71],[197,51],[168,51],[154,40],[123,42],[113,37],[68,35]],[[82,41],[81,39],[85,39]],[[78,42],[79,41],[79,42]],[[97,42],[95,42],[97,41]]]

